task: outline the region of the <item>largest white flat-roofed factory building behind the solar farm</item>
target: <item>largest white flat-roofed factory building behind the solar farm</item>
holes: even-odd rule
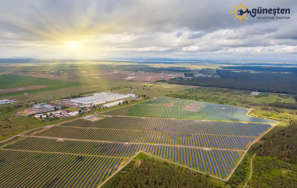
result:
[[[135,94],[120,94],[118,92],[113,93],[111,91],[107,91],[107,92],[101,92],[101,93],[94,93],[93,96],[89,96],[89,97],[71,99],[71,101],[77,102],[78,104],[91,104],[91,103],[96,103],[101,101],[110,102],[110,101],[125,99],[129,97],[135,97]]]

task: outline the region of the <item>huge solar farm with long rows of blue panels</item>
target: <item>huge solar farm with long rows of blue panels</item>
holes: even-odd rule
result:
[[[223,181],[277,123],[245,108],[171,97],[28,131],[0,143],[0,187],[96,188],[138,152]]]

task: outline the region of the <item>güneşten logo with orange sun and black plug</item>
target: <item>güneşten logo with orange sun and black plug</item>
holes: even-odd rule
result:
[[[241,19],[245,18],[247,19],[247,15],[249,14],[252,18],[256,17],[257,14],[273,14],[270,16],[257,16],[257,19],[260,20],[265,20],[265,19],[290,19],[290,16],[275,16],[277,14],[290,14],[290,9],[284,9],[284,8],[274,8],[274,9],[266,9],[266,8],[262,8],[262,7],[258,7],[257,9],[247,9],[247,5],[245,7],[241,6],[241,3],[239,3],[239,7],[236,7],[233,5],[233,7],[235,8],[234,12],[230,12],[231,14],[234,14],[235,17],[233,18],[233,20],[235,20],[236,18],[239,19],[239,22],[241,23]]]

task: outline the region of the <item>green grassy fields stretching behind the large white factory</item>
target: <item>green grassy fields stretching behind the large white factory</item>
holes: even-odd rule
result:
[[[1,76],[0,78],[10,78],[12,84],[9,84],[6,81],[3,84],[3,87],[7,88],[18,88],[27,85],[41,85],[47,86],[46,88],[26,90],[26,91],[17,91],[11,93],[0,94],[0,99],[11,98],[17,103],[1,105],[0,107],[11,106],[15,104],[27,103],[32,101],[51,101],[51,99],[56,100],[59,97],[70,96],[70,94],[92,94],[96,91],[118,91],[119,93],[127,94],[135,89],[135,94],[146,95],[147,97],[159,97],[166,94],[170,94],[170,91],[176,92],[183,90],[184,86],[169,85],[169,84],[152,84],[153,87],[146,87],[137,81],[131,80],[113,80],[113,79],[90,79],[90,78],[63,78],[59,80],[51,80],[47,78],[34,78],[26,76]],[[18,83],[18,79],[28,81],[24,82],[27,85],[21,86],[21,83]],[[36,82],[35,82],[36,81]],[[38,82],[37,82],[38,81]],[[43,83],[43,84],[42,84]],[[57,85],[56,85],[57,84]],[[59,85],[62,84],[62,85]],[[0,84],[0,89],[2,84]],[[133,89],[129,89],[132,87]],[[149,89],[149,90],[148,90]],[[23,93],[28,93],[24,95]]]

